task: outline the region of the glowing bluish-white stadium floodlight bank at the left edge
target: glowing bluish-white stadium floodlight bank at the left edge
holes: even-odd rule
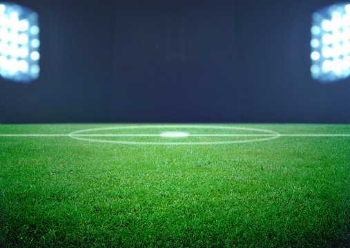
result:
[[[0,3],[0,76],[20,83],[39,77],[38,15],[14,3]]]

